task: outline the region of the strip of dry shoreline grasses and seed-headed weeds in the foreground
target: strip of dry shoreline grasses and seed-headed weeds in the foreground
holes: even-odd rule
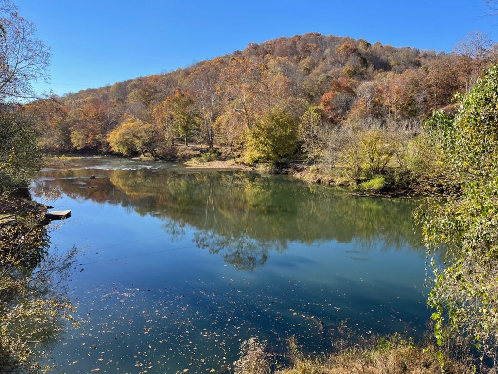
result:
[[[236,374],[472,374],[475,364],[462,347],[444,353],[430,336],[415,344],[407,335],[353,337],[345,323],[330,352],[304,354],[295,337],[287,339],[282,357],[268,350],[265,341],[252,337],[241,345]],[[352,343],[354,339],[355,343]],[[444,361],[444,367],[441,365]],[[481,365],[481,373],[486,368]]]

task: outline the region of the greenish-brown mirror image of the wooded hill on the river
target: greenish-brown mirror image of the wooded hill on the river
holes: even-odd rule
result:
[[[197,230],[199,247],[243,269],[264,264],[270,250],[284,250],[289,241],[419,247],[411,220],[415,203],[408,199],[352,198],[330,187],[241,172],[104,174],[90,180],[85,179],[91,175],[87,170],[47,171],[47,180],[37,182],[35,192],[58,186],[75,199],[120,204],[164,218],[172,233],[188,224]]]

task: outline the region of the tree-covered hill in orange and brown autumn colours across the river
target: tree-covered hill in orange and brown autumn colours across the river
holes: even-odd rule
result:
[[[249,163],[281,162],[296,153],[314,164],[342,162],[346,174],[358,179],[365,170],[381,174],[395,159],[403,166],[420,121],[468,91],[496,56],[495,45],[480,32],[450,53],[307,33],[33,102],[25,110],[42,117],[40,146],[46,152],[171,160],[188,156],[193,143],[221,146]],[[368,146],[358,160],[341,154],[346,144],[372,137],[381,138],[378,160],[369,161]]]

